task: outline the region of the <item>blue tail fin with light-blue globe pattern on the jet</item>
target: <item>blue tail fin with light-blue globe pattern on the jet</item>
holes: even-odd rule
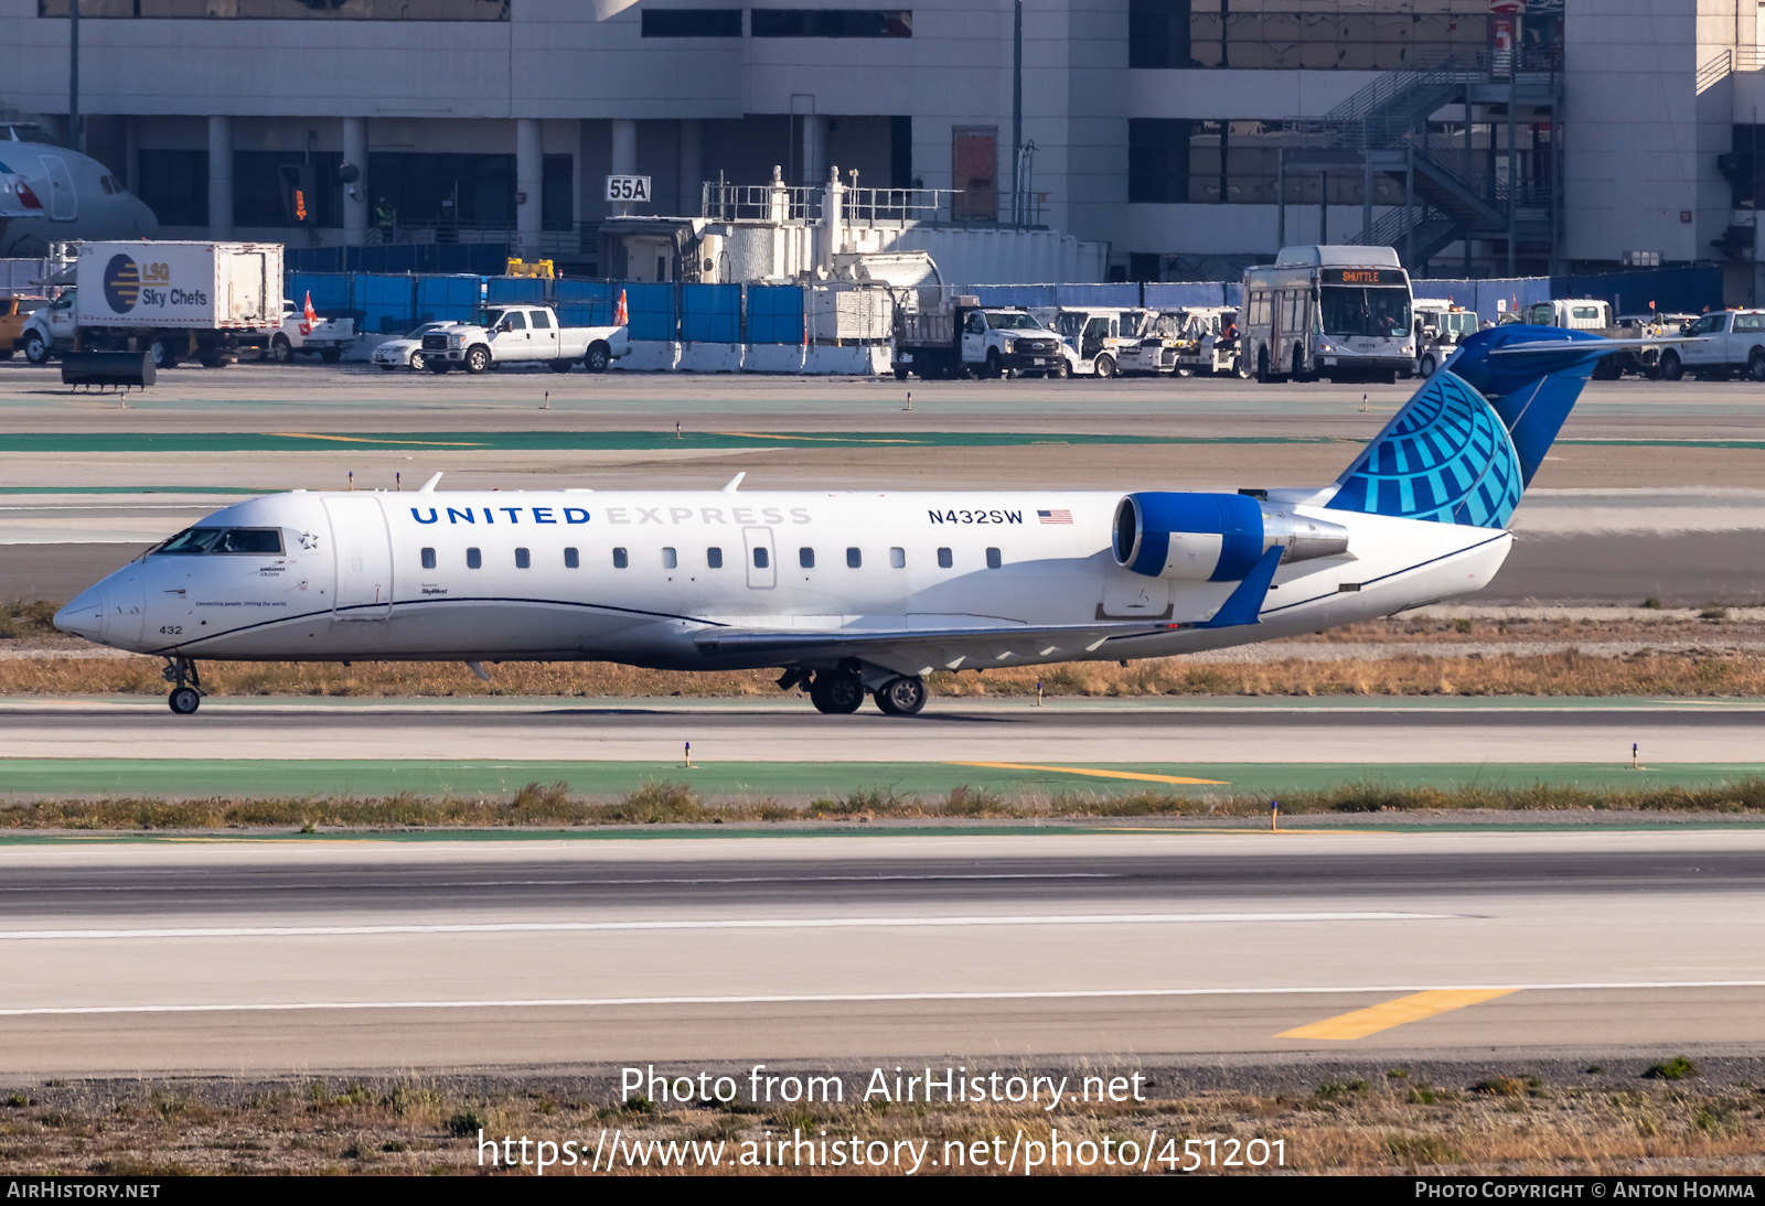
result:
[[[1507,527],[1594,363],[1610,351],[1610,340],[1588,331],[1477,331],[1343,471],[1326,506]]]

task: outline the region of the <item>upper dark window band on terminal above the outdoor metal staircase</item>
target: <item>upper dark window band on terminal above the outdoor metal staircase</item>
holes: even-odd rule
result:
[[[1481,7],[1481,5],[1470,5]],[[1548,69],[1562,60],[1562,0],[1536,0],[1518,21],[1521,53]],[[1488,49],[1488,12],[1456,0],[1412,0],[1377,11],[1361,0],[1128,0],[1128,65],[1137,69],[1400,71]]]

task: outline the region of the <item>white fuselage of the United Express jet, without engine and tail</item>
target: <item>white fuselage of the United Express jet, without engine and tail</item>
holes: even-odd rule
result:
[[[1306,504],[1310,492],[1276,497],[1345,525],[1350,545],[1345,555],[1281,566],[1258,624],[1167,628],[1084,651],[995,654],[987,665],[1149,658],[1389,615],[1477,591],[1513,540],[1500,529],[1324,511]],[[282,552],[152,554],[69,603],[56,622],[106,645],[175,658],[605,659],[685,670],[792,663],[777,651],[694,642],[717,626],[879,635],[1209,619],[1237,584],[1119,568],[1110,541],[1121,499],[957,490],[275,494],[199,527],[275,531]],[[955,652],[935,665],[964,668],[960,642],[948,647]],[[930,668],[888,644],[863,658],[900,674]]]

